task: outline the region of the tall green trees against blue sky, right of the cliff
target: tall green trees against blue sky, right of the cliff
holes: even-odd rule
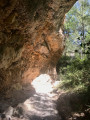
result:
[[[79,0],[66,15],[64,34],[66,51],[90,54],[90,2]]]

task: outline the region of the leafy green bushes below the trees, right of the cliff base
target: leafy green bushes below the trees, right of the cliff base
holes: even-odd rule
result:
[[[62,61],[63,60],[63,61]],[[90,79],[90,61],[63,57],[59,61],[60,80],[59,88],[65,90],[86,90]]]

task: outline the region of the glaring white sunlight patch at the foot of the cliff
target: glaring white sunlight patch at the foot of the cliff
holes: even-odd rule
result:
[[[37,93],[50,93],[53,90],[52,79],[47,74],[41,74],[34,79],[32,85]]]

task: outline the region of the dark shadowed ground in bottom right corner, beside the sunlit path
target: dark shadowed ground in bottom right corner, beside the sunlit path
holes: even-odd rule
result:
[[[90,105],[89,91],[86,93],[62,93],[57,100],[57,110],[63,120],[89,120],[90,109],[87,115],[88,108],[86,105]],[[78,116],[75,117],[74,113],[77,113]]]

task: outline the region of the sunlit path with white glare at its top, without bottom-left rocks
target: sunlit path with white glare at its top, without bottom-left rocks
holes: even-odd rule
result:
[[[32,85],[36,94],[24,102],[25,114],[28,114],[30,120],[60,120],[53,97],[50,97],[53,91],[50,76],[42,74],[32,82]]]

